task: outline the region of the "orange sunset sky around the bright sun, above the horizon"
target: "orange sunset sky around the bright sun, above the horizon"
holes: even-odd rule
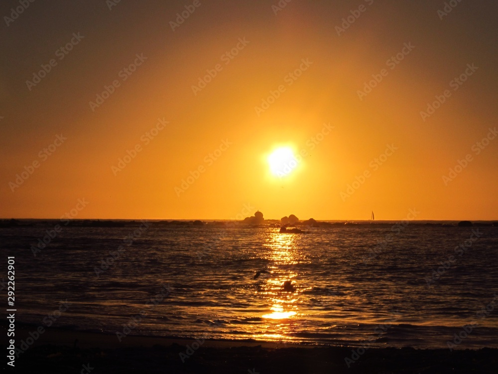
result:
[[[450,2],[4,1],[0,217],[496,220],[498,3]]]

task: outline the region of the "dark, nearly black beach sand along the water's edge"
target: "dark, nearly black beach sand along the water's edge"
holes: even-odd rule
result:
[[[2,325],[4,330],[5,325]],[[16,346],[36,326],[16,326]],[[78,342],[75,345],[75,340]],[[348,368],[351,348],[205,341],[183,363],[194,340],[47,329],[15,361],[16,373],[498,373],[498,350],[369,349]],[[9,367],[7,367],[9,368]]]

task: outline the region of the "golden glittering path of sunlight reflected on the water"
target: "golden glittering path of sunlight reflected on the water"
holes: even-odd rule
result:
[[[297,245],[297,236],[294,234],[281,234],[275,229],[264,241],[264,252],[267,259],[272,262],[268,268],[270,272],[262,291],[262,295],[268,300],[268,313],[261,317],[268,320],[260,331],[266,333],[255,333],[255,339],[267,340],[292,340],[288,336],[294,332],[294,321],[299,316],[299,293],[302,289],[293,292],[284,291],[282,285],[285,281],[293,282],[297,274],[286,269],[286,265],[295,265],[302,260],[303,255]]]

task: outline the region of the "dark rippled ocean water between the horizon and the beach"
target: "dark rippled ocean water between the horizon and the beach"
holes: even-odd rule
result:
[[[121,339],[498,348],[498,227],[63,226],[34,256],[56,223],[0,228],[17,322]]]

